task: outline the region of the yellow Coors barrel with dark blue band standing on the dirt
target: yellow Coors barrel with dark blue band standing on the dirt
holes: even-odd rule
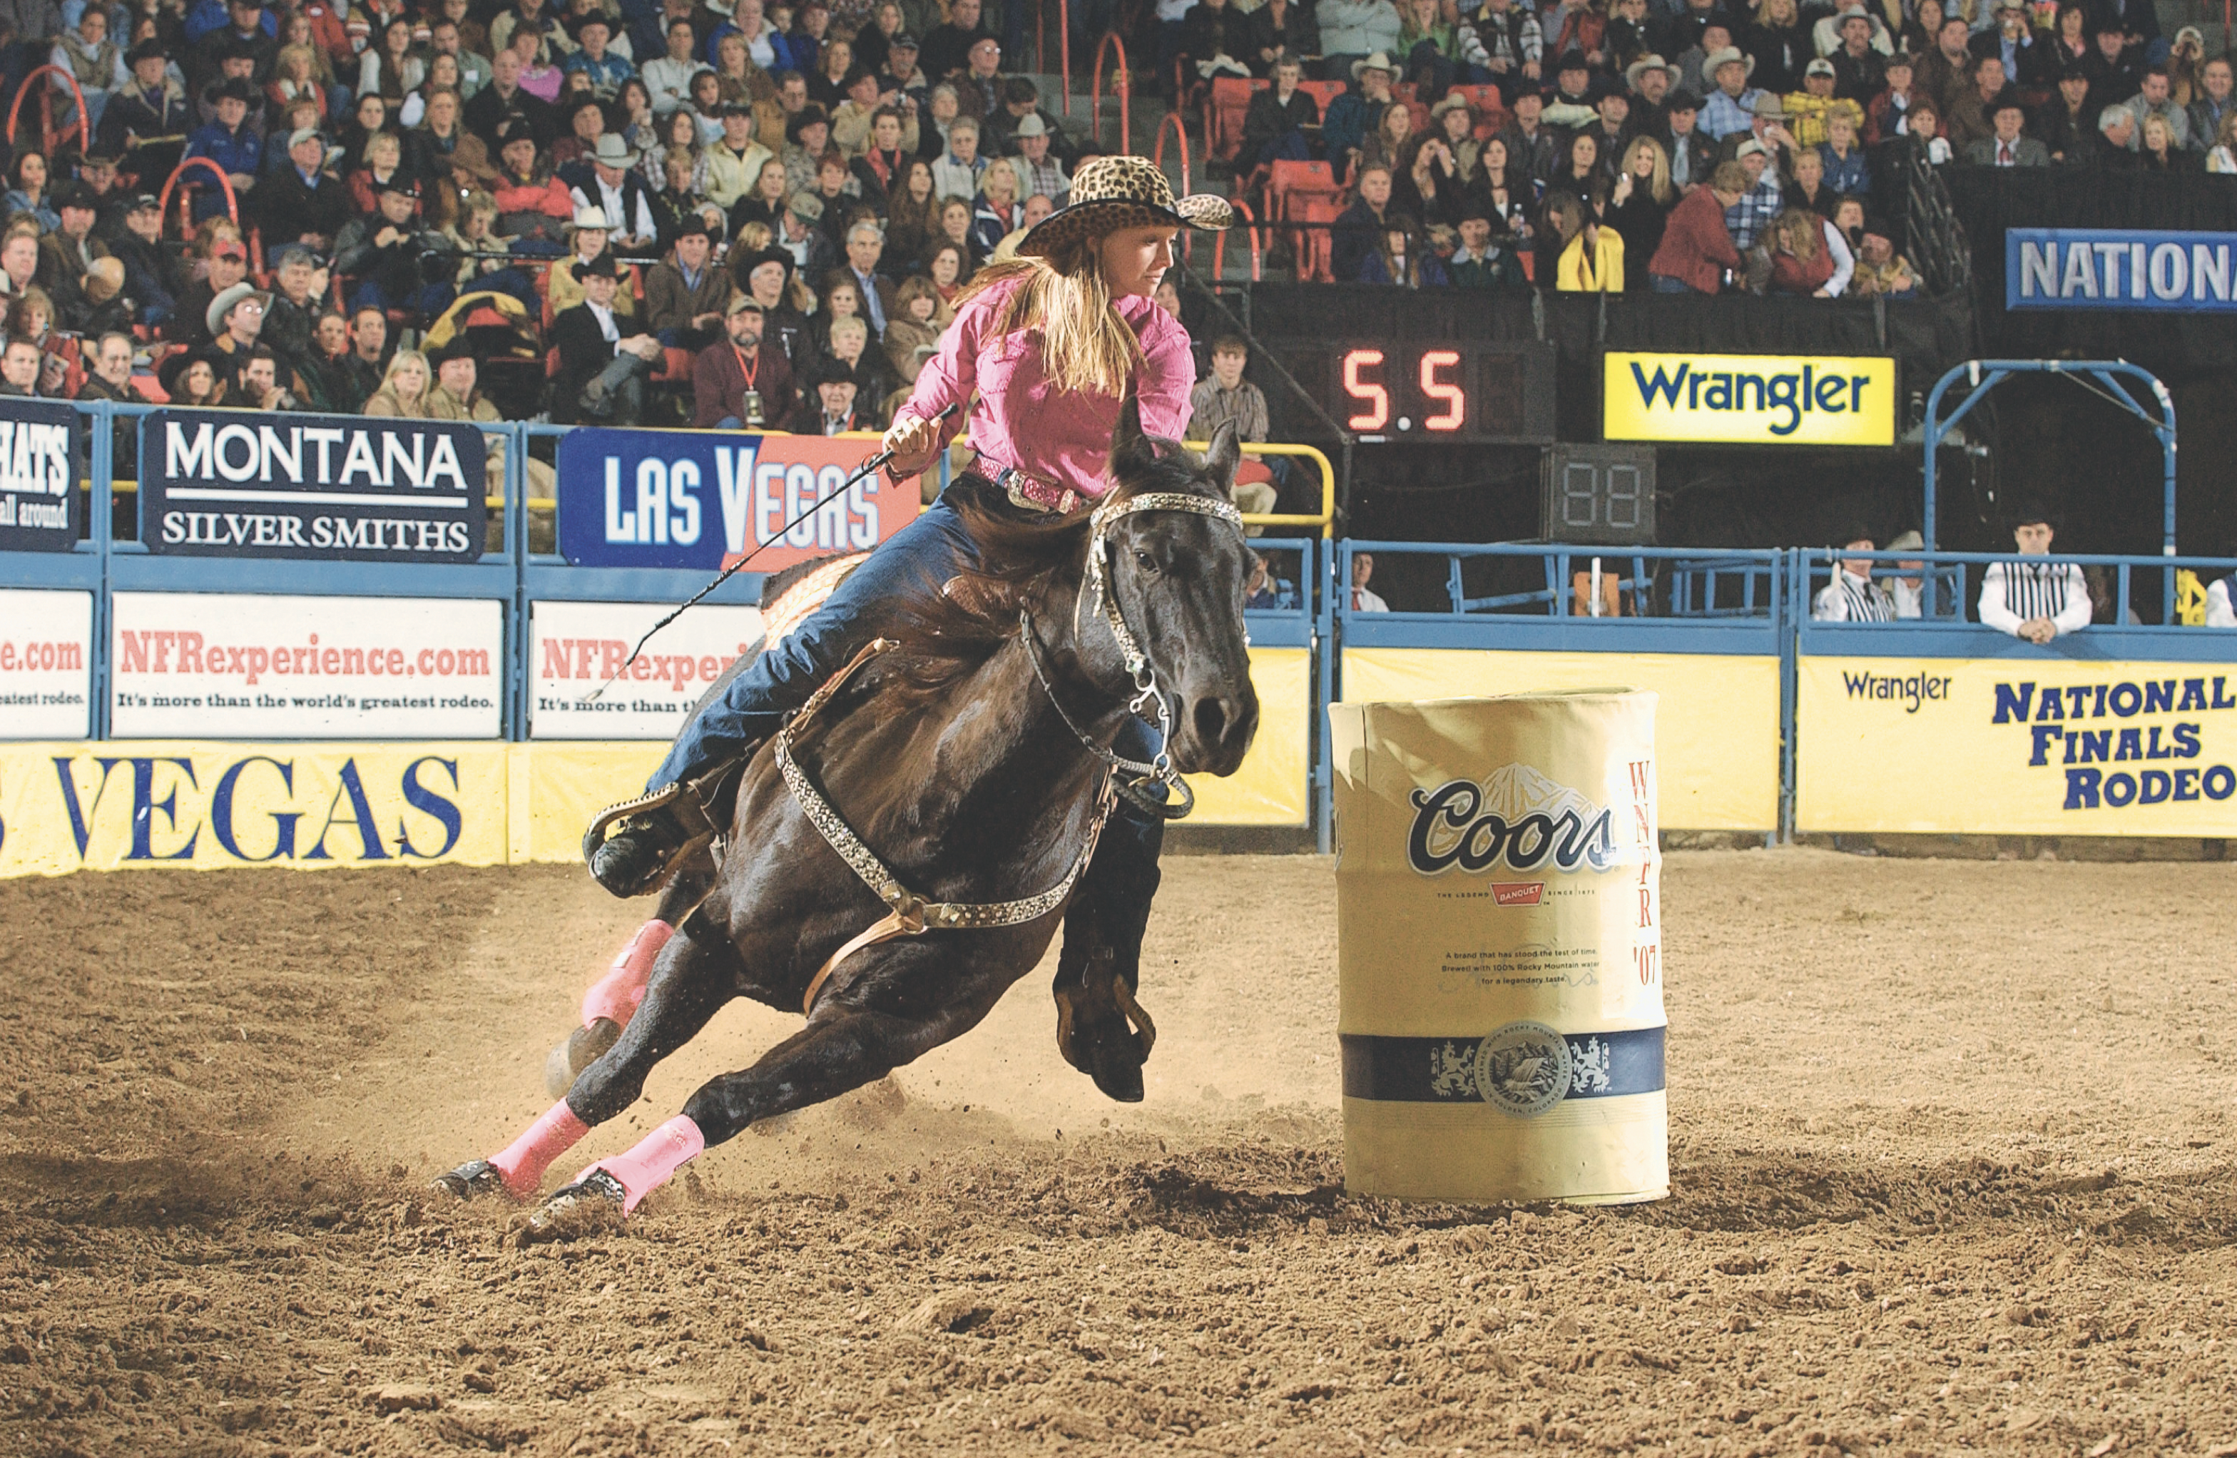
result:
[[[1669,1194],[1655,695],[1329,718],[1344,1187]]]

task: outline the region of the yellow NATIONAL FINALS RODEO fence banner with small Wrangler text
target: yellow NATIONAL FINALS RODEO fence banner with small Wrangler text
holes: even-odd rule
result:
[[[1803,657],[1799,830],[2237,834],[2237,671]]]

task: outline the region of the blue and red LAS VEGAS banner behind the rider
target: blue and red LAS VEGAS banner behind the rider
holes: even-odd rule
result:
[[[884,474],[817,508],[875,449],[875,438],[573,429],[559,436],[559,552],[579,568],[707,572],[754,548],[767,548],[756,572],[861,552],[924,510],[915,481]]]

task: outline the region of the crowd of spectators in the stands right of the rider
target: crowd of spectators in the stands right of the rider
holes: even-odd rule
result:
[[[1344,179],[1347,282],[1899,295],[1893,163],[2237,170],[2230,60],[2152,0],[1237,9],[1197,0],[1165,54],[1271,83],[1237,165]]]

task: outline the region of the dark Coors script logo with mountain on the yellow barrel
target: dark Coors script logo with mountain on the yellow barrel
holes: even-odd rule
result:
[[[1454,865],[1490,870],[1501,861],[1514,870],[1535,870],[1548,859],[1559,870],[1615,863],[1608,810],[1528,765],[1494,769],[1483,785],[1447,780],[1416,789],[1412,801],[1405,856],[1425,877]]]

